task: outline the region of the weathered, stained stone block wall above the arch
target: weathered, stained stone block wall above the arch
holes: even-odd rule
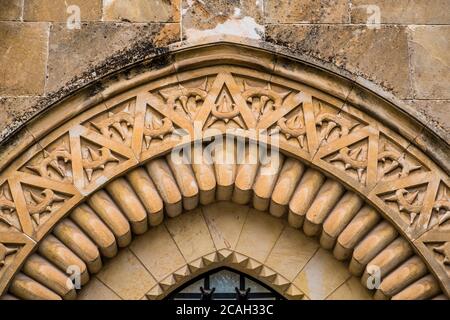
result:
[[[0,0],[0,140],[74,79],[218,33],[333,63],[450,131],[450,0]]]

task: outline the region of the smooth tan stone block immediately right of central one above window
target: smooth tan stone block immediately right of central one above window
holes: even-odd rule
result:
[[[274,247],[286,222],[265,212],[250,209],[236,251],[264,262]]]

